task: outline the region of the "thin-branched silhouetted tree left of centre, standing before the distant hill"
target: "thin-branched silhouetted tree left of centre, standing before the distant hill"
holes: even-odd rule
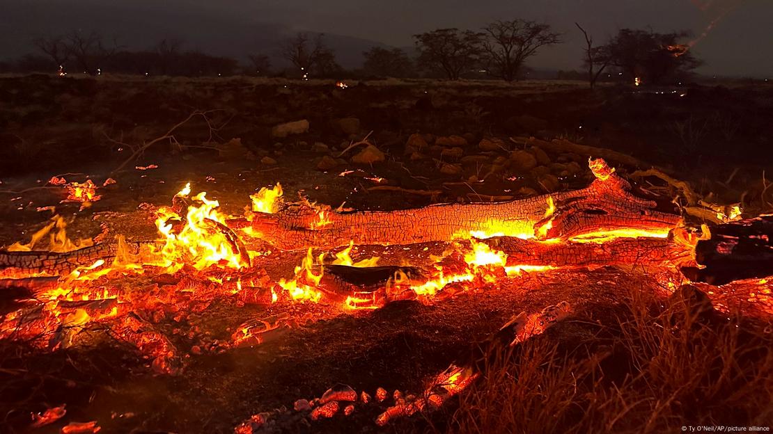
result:
[[[340,68],[335,63],[335,53],[325,46],[322,34],[318,34],[314,41],[306,33],[298,33],[295,38],[285,39],[281,42],[280,54],[284,59],[288,59],[304,78],[308,78],[310,73],[324,75]]]

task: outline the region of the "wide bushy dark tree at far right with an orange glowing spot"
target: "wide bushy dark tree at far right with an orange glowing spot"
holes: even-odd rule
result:
[[[639,77],[642,83],[658,84],[689,73],[700,65],[689,47],[679,43],[679,39],[689,35],[689,32],[621,29],[603,49],[609,56],[609,63],[631,80]]]

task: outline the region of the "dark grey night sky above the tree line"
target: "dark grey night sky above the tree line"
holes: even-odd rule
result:
[[[344,62],[373,43],[412,46],[440,27],[478,29],[494,19],[535,19],[564,32],[530,66],[581,66],[581,22],[598,40],[618,29],[711,32],[694,48],[705,74],[773,76],[773,0],[0,0],[0,58],[32,51],[32,36],[69,29],[116,35],[131,48],[165,36],[213,54],[267,51],[294,31],[325,32]],[[346,56],[342,51],[349,50]]]

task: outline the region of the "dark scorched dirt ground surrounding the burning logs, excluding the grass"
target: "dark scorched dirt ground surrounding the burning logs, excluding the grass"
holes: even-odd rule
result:
[[[217,199],[223,212],[239,215],[250,194],[278,181],[290,198],[299,192],[333,208],[404,209],[524,198],[591,180],[587,155],[549,152],[543,158],[509,137],[621,151],[642,168],[655,164],[703,195],[713,192],[717,202],[744,202],[749,213],[771,201],[764,174],[773,170],[773,86],[610,86],[591,93],[584,83],[552,81],[348,84],[0,78],[0,246],[26,242],[48,221],[49,206],[66,217],[73,238],[107,231],[156,239],[155,217],[144,204],[169,205],[186,182]],[[206,122],[196,117],[174,131],[174,141],[130,158],[196,110],[208,111]],[[272,137],[272,127],[295,120],[308,120],[308,132]],[[381,153],[370,164],[352,161],[366,144],[347,150],[363,137]],[[539,158],[532,164],[523,154]],[[618,165],[622,174],[633,169]],[[116,183],[80,209],[80,203],[60,203],[63,188],[46,185],[54,175]],[[421,255],[443,249],[427,247]],[[261,266],[277,280],[291,276],[301,256],[274,252]],[[314,303],[262,308],[217,300],[204,312],[159,324],[170,335],[175,327],[198,327],[196,339],[206,337],[214,348],[192,354],[195,340],[179,338],[186,368],[176,376],[153,375],[135,351],[115,344],[55,354],[11,345],[2,348],[6,392],[29,398],[2,402],[8,408],[0,409],[0,429],[23,432],[30,411],[66,402],[67,420],[97,420],[104,432],[232,432],[250,415],[291,407],[338,382],[371,394],[377,387],[420,391],[429,376],[464,358],[513,314],[566,300],[582,317],[578,324],[593,321],[615,308],[622,282],[627,290],[662,290],[650,270],[598,269],[526,274],[440,303],[402,301],[356,313]],[[227,340],[244,320],[284,313],[314,320],[254,348],[217,351],[216,341]],[[586,331],[578,325],[574,333]],[[26,374],[9,374],[15,369]],[[275,428],[373,432],[375,415]]]

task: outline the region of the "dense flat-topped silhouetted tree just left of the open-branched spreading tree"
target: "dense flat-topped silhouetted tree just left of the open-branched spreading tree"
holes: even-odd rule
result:
[[[472,30],[437,29],[414,35],[419,66],[441,71],[448,80],[458,80],[480,59],[482,33]]]

